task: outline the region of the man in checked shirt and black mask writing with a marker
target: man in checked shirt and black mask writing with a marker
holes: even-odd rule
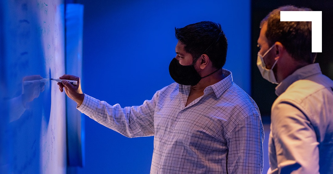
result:
[[[252,98],[222,69],[227,40],[219,24],[176,28],[176,82],[140,106],[110,105],[87,94],[80,78],[64,75],[60,91],[78,109],[127,137],[154,136],[151,173],[261,173],[263,127]]]

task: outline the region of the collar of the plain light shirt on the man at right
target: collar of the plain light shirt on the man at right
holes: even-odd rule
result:
[[[285,78],[277,87],[275,87],[275,94],[281,95],[292,83],[305,79],[315,74],[321,74],[321,70],[318,63],[310,64],[297,69],[294,73]]]

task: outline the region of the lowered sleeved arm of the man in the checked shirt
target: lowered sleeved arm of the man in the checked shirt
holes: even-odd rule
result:
[[[228,138],[229,173],[261,173],[264,138],[259,116],[249,115],[238,122]]]

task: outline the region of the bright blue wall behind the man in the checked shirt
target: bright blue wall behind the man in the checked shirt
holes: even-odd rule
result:
[[[250,1],[90,1],[84,4],[83,92],[110,104],[140,105],[173,82],[174,27],[222,25],[225,69],[250,92]],[[149,173],[153,138],[127,138],[86,117],[86,165],[76,173]]]

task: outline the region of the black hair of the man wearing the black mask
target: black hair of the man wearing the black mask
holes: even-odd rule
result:
[[[220,24],[210,21],[189,24],[175,28],[175,35],[184,44],[184,50],[192,55],[193,61],[206,54],[215,68],[224,66],[228,43]]]

